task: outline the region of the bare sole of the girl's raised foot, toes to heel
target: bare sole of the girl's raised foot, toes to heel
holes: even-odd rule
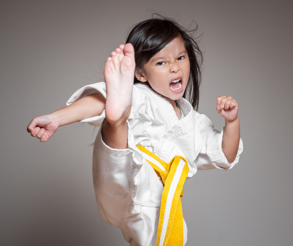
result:
[[[121,44],[107,59],[104,69],[107,89],[105,114],[110,124],[126,121],[130,114],[134,70],[134,48],[130,43]]]

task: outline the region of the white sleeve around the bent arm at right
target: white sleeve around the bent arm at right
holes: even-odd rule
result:
[[[205,115],[195,111],[195,117],[198,122],[200,135],[203,141],[202,149],[195,160],[198,170],[231,169],[239,161],[240,154],[243,151],[243,143],[240,138],[236,158],[233,162],[228,163],[222,149],[224,127],[219,132],[214,129],[212,121]]]

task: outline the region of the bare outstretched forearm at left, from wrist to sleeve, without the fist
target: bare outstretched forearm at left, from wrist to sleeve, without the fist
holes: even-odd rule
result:
[[[85,96],[69,106],[51,113],[58,126],[100,115],[105,108],[106,99],[101,93]]]

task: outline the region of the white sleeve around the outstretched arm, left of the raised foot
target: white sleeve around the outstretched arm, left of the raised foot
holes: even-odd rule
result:
[[[95,84],[87,85],[75,91],[73,95],[70,96],[69,100],[66,103],[66,106],[70,105],[71,103],[77,101],[78,99],[84,96],[88,96],[90,94],[94,94],[97,92],[101,93],[106,98],[106,84],[104,82],[98,82]],[[87,118],[80,122],[89,123],[94,126],[101,126],[105,117],[106,116],[105,116],[105,110],[104,110],[101,115]]]

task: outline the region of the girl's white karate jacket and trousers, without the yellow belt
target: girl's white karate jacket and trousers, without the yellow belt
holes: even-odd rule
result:
[[[96,92],[106,98],[104,82],[82,87],[70,97],[67,105]],[[185,115],[180,120],[166,98],[144,83],[134,85],[131,113],[127,120],[127,149],[107,146],[102,140],[101,129],[94,144],[93,178],[99,212],[106,222],[121,229],[131,246],[156,245],[164,188],[137,149],[137,144],[167,163],[175,155],[183,156],[189,165],[187,178],[195,175],[197,170],[228,170],[238,162],[243,150],[240,139],[237,156],[228,163],[222,150],[223,129],[221,132],[214,130],[209,118],[194,111],[184,98],[176,102]],[[105,111],[81,122],[101,126],[104,118]],[[183,224],[185,245],[185,221]]]

